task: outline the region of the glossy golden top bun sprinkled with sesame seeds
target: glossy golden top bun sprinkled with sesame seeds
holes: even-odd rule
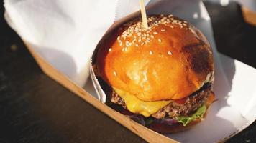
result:
[[[133,19],[117,32],[100,71],[112,87],[143,101],[182,99],[213,79],[211,47],[201,31],[174,16]]]

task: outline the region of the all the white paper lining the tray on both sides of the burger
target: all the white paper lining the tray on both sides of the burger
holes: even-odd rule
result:
[[[6,20],[19,36],[81,86],[88,77],[93,49],[109,26],[114,20],[124,21],[124,16],[139,9],[137,1],[128,0],[4,2]],[[180,142],[216,142],[251,124],[256,119],[256,71],[216,51],[210,18],[204,5],[198,0],[155,0],[150,1],[147,13],[174,14],[186,19],[201,29],[214,49],[214,91],[219,101],[213,104],[201,124],[187,132],[166,136]],[[98,89],[100,92],[96,94],[91,80],[85,88],[104,102],[102,91]]]

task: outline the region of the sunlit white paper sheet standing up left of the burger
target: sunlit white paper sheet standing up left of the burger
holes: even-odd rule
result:
[[[113,24],[117,0],[5,0],[6,21],[40,56],[83,86],[91,53]]]

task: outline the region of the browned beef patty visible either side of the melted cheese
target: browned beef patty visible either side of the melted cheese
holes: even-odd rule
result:
[[[204,86],[201,87],[201,89],[194,92],[190,96],[184,99],[173,100],[173,102],[170,102],[170,104],[166,105],[159,111],[152,114],[152,117],[161,119],[166,116],[168,117],[178,117],[180,115],[189,116],[190,114],[193,114],[193,112],[196,112],[196,109],[198,109],[198,107],[201,107],[206,102],[210,93],[211,93],[211,83],[204,84]],[[116,94],[114,90],[111,93],[111,102],[115,104],[119,104],[125,109],[127,109],[124,100],[121,97],[119,97],[119,95]]]

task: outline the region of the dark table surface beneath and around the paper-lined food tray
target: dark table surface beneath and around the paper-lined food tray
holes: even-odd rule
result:
[[[218,50],[256,67],[256,27],[240,6],[206,8]],[[43,74],[3,17],[0,31],[0,142],[145,142]],[[228,142],[256,142],[255,134],[256,122]]]

